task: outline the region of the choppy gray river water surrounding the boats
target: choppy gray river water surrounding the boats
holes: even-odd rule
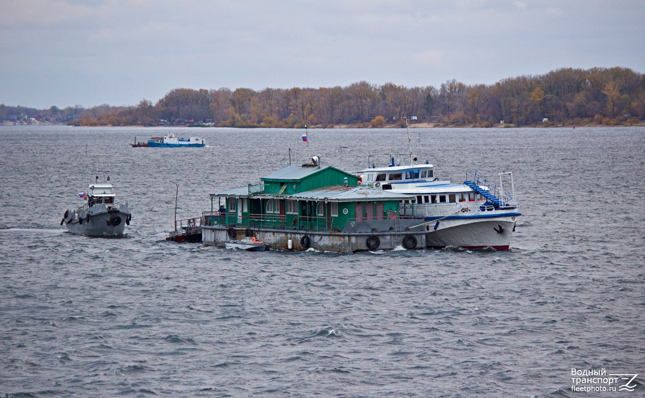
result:
[[[168,131],[0,128],[0,396],[644,396],[645,129],[411,129],[441,178],[513,171],[511,250],[357,254],[165,242],[175,182],[188,218],[289,147],[307,156],[283,129],[129,145]],[[347,171],[408,146],[404,129],[309,133]],[[126,238],[59,226],[95,171],[86,152],[110,155]],[[571,392],[571,368],[638,385]]]

